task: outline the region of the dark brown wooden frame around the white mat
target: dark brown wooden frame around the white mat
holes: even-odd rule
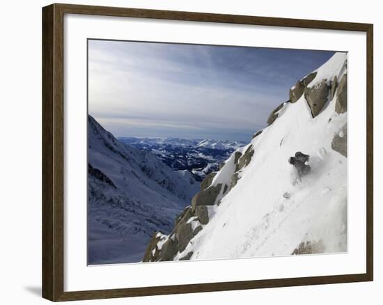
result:
[[[63,16],[104,15],[366,32],[366,273],[64,292]],[[52,4],[42,8],[42,297],[52,301],[373,281],[373,24]]]

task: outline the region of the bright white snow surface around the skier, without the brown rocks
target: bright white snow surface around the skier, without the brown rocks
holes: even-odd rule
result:
[[[335,54],[314,81],[343,75],[346,61],[346,54]],[[347,158],[331,149],[347,113],[337,114],[335,102],[315,118],[303,95],[286,103],[279,118],[249,143],[254,155],[237,185],[221,191],[210,221],[175,260],[189,251],[192,260],[287,256],[302,242],[319,242],[324,253],[347,251]],[[288,163],[297,151],[310,155],[311,173],[302,181]],[[233,153],[212,185],[230,185],[234,170]]]

